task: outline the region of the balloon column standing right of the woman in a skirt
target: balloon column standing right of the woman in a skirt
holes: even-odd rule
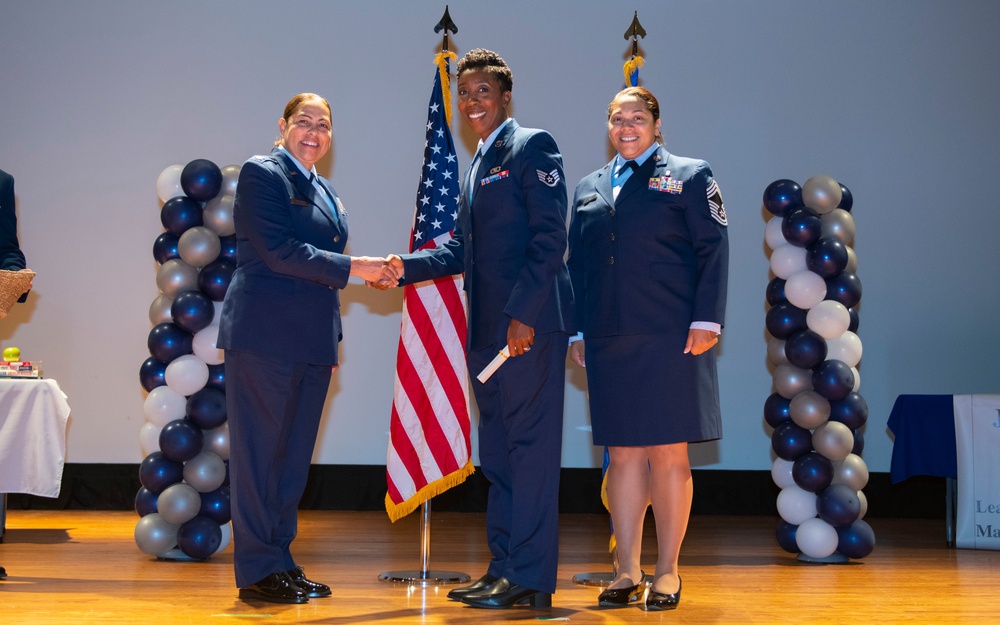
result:
[[[781,488],[776,533],[783,549],[819,562],[863,558],[875,547],[862,520],[868,405],[858,394],[861,281],[852,206],[847,187],[828,176],[801,187],[775,180],[764,191],[773,215],[764,237],[775,276],[766,293],[775,392],[764,419],[774,428],[771,477]]]

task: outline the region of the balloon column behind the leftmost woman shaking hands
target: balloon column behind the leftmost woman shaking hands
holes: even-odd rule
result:
[[[153,242],[160,294],[149,307],[150,357],[139,367],[148,395],[135,542],[164,559],[201,560],[232,538],[225,374],[215,342],[236,269],[239,171],[198,159],[167,167],[156,181],[166,231]]]

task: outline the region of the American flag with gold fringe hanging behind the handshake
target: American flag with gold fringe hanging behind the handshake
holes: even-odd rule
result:
[[[459,176],[448,126],[447,57],[438,55],[438,64],[427,112],[411,252],[447,243],[458,217]],[[385,467],[385,508],[392,521],[473,472],[462,282],[462,276],[447,276],[404,287]]]

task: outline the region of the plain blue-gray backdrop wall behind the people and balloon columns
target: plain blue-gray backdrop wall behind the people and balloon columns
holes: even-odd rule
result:
[[[514,114],[558,141],[571,185],[610,156],[637,9],[642,83],[672,151],[708,160],[730,219],[721,344],[725,438],[696,466],[768,469],[764,188],[830,175],[854,194],[864,284],[865,457],[887,471],[900,393],[1000,392],[1000,3],[990,0],[449,0],[453,49],[500,52]],[[148,307],[162,232],[156,178],[269,150],[288,98],[327,96],[322,163],[353,254],[406,246],[443,2],[0,0],[0,168],[17,181],[38,272],[0,343],[42,360],[69,396],[68,461],[134,463]],[[475,146],[456,115],[460,166]],[[399,293],[343,293],[346,338],[315,462],[381,464]],[[275,320],[280,323],[281,320]],[[567,368],[563,466],[600,466],[586,382]]]

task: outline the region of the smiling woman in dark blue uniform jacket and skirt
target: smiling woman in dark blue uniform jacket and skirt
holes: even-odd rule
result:
[[[729,243],[708,163],[662,146],[660,111],[631,87],[608,107],[617,154],[577,185],[569,270],[587,367],[594,444],[608,446],[608,505],[619,569],[599,604],[642,593],[646,506],[656,517],[656,575],[645,607],[673,609],[691,509],[687,445],[722,436],[712,347],[722,331]]]

